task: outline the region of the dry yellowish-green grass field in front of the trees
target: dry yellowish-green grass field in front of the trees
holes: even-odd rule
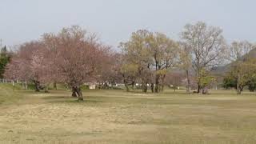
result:
[[[84,90],[49,94],[0,85],[0,143],[256,143],[256,94]]]

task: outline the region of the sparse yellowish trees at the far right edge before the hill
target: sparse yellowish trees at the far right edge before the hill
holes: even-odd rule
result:
[[[224,87],[235,88],[241,94],[245,86],[256,90],[256,53],[250,42],[233,42],[230,45],[230,70],[224,78]]]

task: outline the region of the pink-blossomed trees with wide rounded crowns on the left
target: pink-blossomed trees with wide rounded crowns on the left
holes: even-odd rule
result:
[[[72,26],[20,46],[5,76],[34,82],[36,90],[42,85],[47,89],[52,82],[66,83],[82,101],[82,84],[101,78],[104,69],[112,66],[111,58],[110,48],[98,42],[95,34]]]

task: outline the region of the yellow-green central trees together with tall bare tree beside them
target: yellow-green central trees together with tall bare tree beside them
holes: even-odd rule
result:
[[[166,74],[179,69],[186,72],[187,92],[190,92],[191,78],[196,78],[197,92],[206,94],[206,87],[214,80],[210,71],[223,62],[226,42],[222,30],[207,26],[204,22],[184,27],[180,41],[174,41],[165,34],[138,30],[128,42],[122,42],[125,64],[125,83],[136,79],[146,92],[150,83],[152,92],[158,93],[165,85]]]

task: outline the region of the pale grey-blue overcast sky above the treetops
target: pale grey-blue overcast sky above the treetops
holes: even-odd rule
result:
[[[177,39],[186,23],[220,26],[228,42],[256,42],[255,0],[1,0],[0,38],[7,46],[78,25],[111,46],[139,29]]]

